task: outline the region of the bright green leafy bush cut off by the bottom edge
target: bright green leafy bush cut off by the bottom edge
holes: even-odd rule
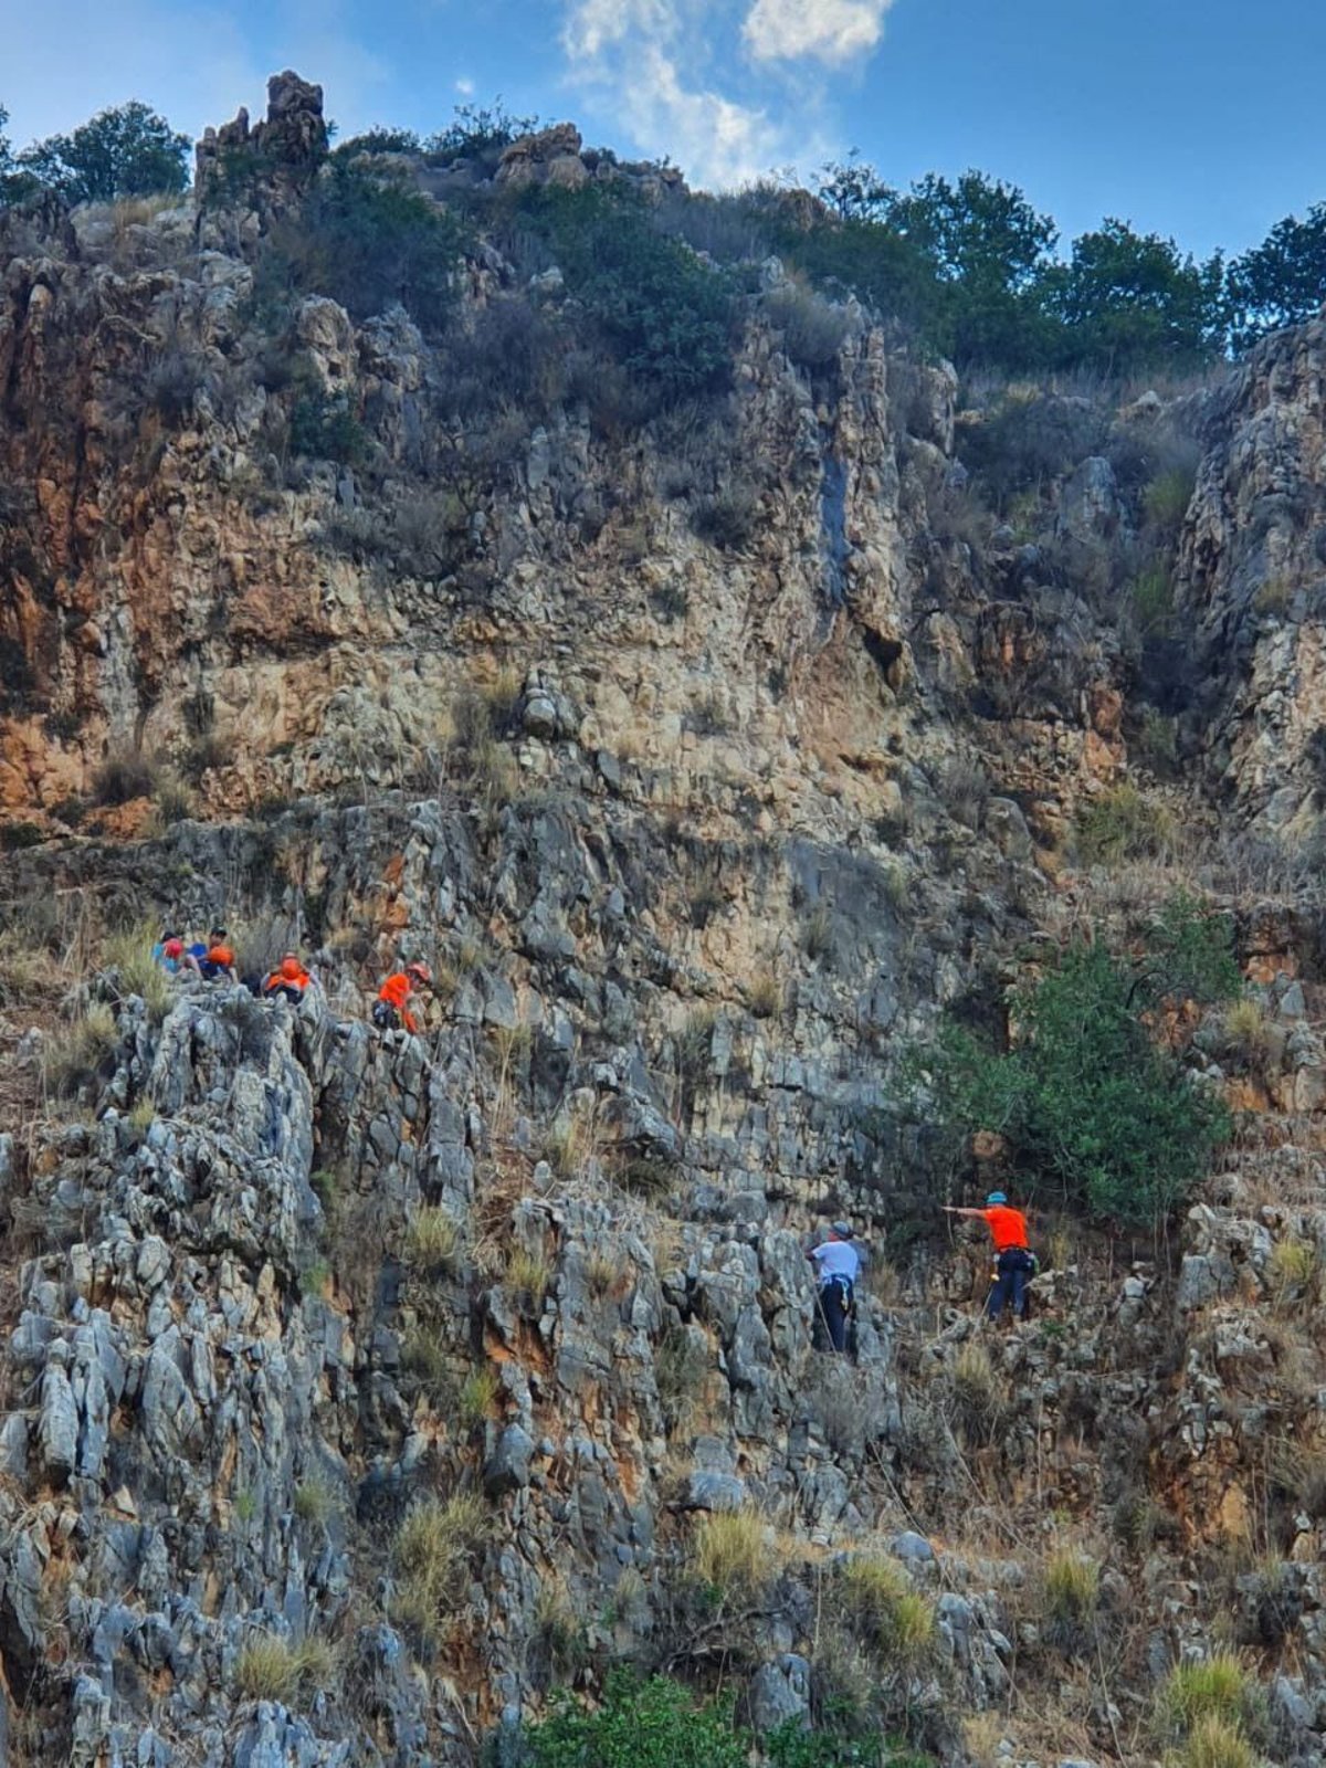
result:
[[[592,1711],[555,1699],[550,1717],[527,1727],[525,1752],[530,1768],[746,1768],[750,1736],[668,1676],[613,1671]]]

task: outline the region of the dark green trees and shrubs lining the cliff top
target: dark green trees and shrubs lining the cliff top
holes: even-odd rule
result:
[[[1326,297],[1326,203],[1287,216],[1232,262],[1199,262],[1119,217],[1064,246],[1050,216],[983,171],[928,173],[900,191],[856,157],[824,168],[817,203],[773,184],[730,196],[670,187],[651,203],[629,180],[495,186],[502,150],[536,122],[465,106],[428,138],[352,138],[267,242],[269,276],[283,267],[290,288],[329,293],[359,316],[401,301],[438,324],[460,219],[481,221],[516,258],[541,242],[626,366],[677,392],[725,380],[732,272],[771,253],[822,292],[856,293],[925,348],[1010,373],[1186,371],[1314,315]],[[187,136],[140,103],[19,154],[0,134],[0,203],[41,189],[71,203],[179,193],[187,150]],[[608,152],[594,159],[615,164]],[[456,166],[472,182],[451,184],[442,205],[412,184],[410,168]],[[233,177],[217,191],[240,194]]]

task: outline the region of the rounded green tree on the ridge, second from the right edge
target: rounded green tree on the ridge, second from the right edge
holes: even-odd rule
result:
[[[1107,373],[1192,368],[1225,343],[1223,260],[1197,263],[1172,239],[1103,221],[1073,240],[1068,263],[1045,269],[1045,311],[1066,331],[1064,355]]]

